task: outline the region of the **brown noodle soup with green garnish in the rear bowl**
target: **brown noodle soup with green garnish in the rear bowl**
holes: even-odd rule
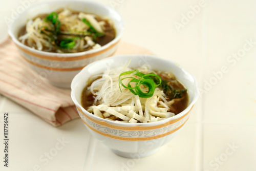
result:
[[[110,18],[62,9],[28,20],[18,40],[40,51],[75,53],[98,49],[115,36]]]

